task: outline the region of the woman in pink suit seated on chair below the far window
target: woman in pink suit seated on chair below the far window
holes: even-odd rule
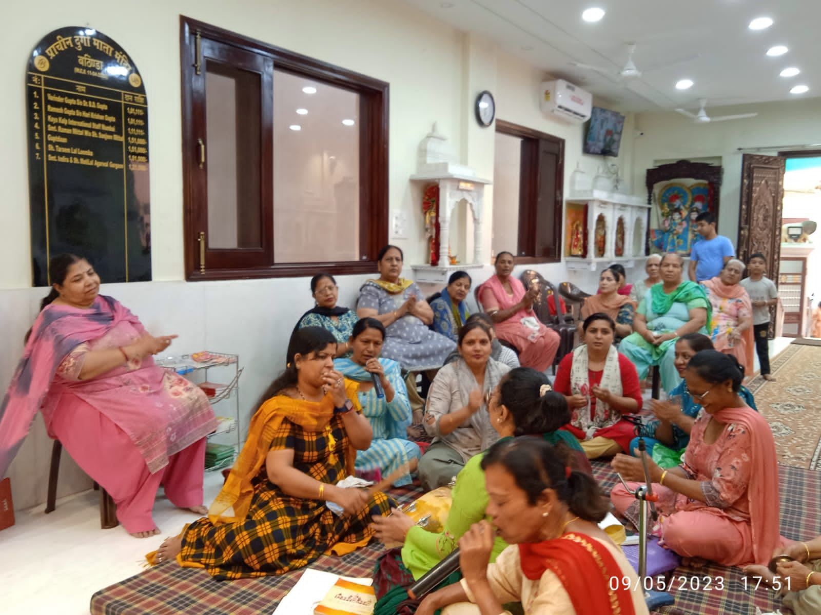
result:
[[[479,302],[496,326],[496,335],[519,351],[524,367],[545,371],[553,365],[559,348],[559,335],[539,321],[533,311],[537,289],[528,289],[511,276],[513,255],[500,252],[496,257],[496,275],[479,287]]]

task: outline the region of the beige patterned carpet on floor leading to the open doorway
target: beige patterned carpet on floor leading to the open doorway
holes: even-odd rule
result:
[[[821,348],[790,344],[773,360],[775,382],[756,376],[748,388],[767,417],[779,461],[821,469]]]

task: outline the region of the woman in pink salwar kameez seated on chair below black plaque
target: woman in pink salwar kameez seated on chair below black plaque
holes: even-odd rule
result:
[[[132,535],[159,532],[151,510],[161,483],[172,503],[203,514],[205,436],[217,423],[198,387],[154,365],[176,336],[149,335],[99,295],[84,258],[55,257],[49,271],[60,281],[0,406],[0,476],[41,410],[48,435],[108,491]]]

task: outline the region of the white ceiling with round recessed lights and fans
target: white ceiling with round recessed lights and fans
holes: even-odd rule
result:
[[[699,98],[708,108],[789,100],[796,84],[810,86],[802,97],[821,96],[821,0],[404,0],[454,26],[496,41],[554,77],[578,84],[623,111],[660,111],[686,107]],[[452,5],[452,7],[447,7]],[[585,8],[607,14],[589,24]],[[749,30],[755,17],[768,16],[767,30]],[[644,75],[618,82],[626,43],[635,42],[634,62]],[[789,52],[768,57],[773,45]],[[682,57],[699,57],[648,71]],[[568,62],[611,67],[613,78]],[[778,75],[787,66],[801,74]],[[675,89],[677,80],[695,85]],[[626,85],[626,87],[624,87]]]

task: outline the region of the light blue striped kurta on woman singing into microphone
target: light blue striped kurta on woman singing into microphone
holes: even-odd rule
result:
[[[407,439],[407,427],[410,425],[411,413],[405,380],[402,379],[401,367],[396,361],[380,358],[385,375],[393,386],[394,396],[390,403],[376,396],[376,390],[370,389],[367,393],[359,394],[362,413],[368,418],[374,430],[374,439],[371,440],[368,450],[356,453],[357,470],[379,469],[382,476],[388,476],[392,471],[421,456],[419,446]],[[362,382],[370,382],[371,376],[365,368],[350,359],[337,359],[337,370],[346,378]],[[410,485],[410,474],[402,476],[393,484],[398,486]]]

